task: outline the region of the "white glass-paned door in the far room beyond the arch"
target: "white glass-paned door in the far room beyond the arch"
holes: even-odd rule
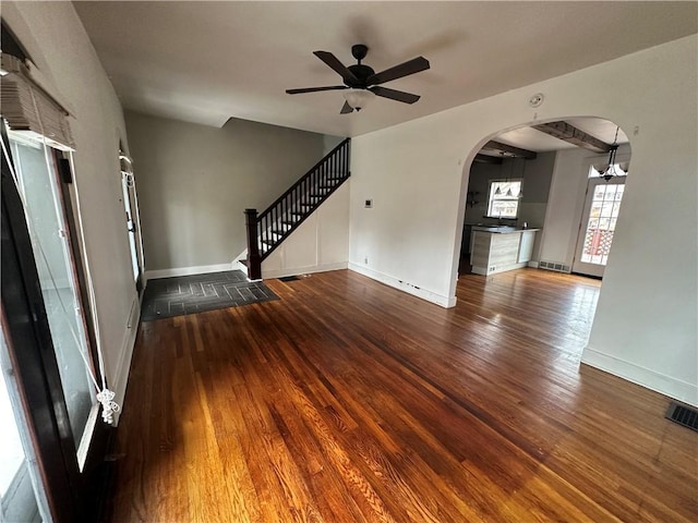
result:
[[[625,177],[590,178],[573,271],[603,277],[625,191]]]

